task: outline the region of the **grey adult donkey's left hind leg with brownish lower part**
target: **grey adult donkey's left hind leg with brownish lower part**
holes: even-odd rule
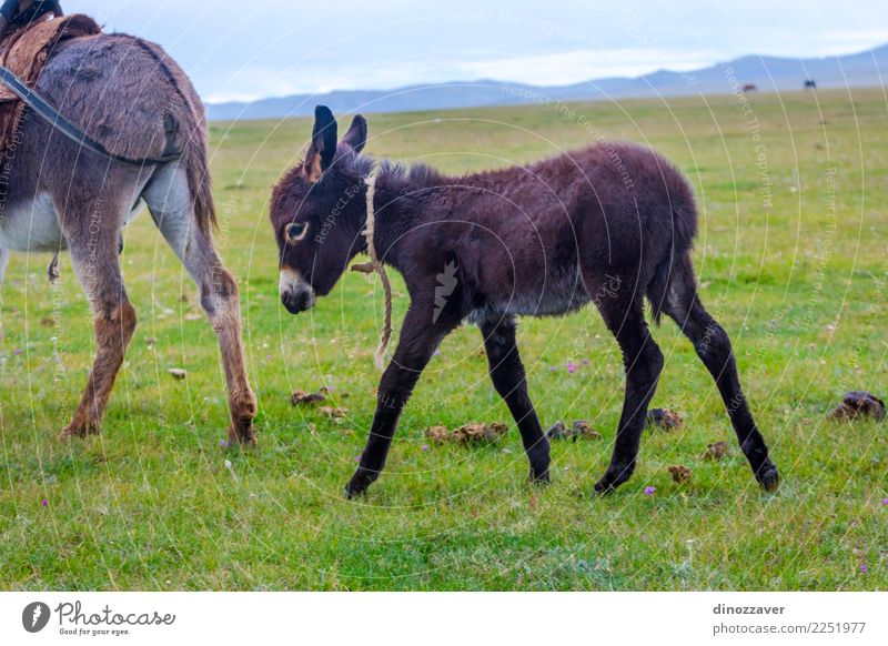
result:
[[[87,388],[62,438],[99,433],[114,378],[135,331],[135,310],[127,297],[118,258],[119,219],[109,212],[98,231],[90,230],[89,234],[68,230],[68,222],[82,224],[94,213],[94,208],[85,215],[67,213],[62,223],[71,262],[92,309],[97,345]]]

